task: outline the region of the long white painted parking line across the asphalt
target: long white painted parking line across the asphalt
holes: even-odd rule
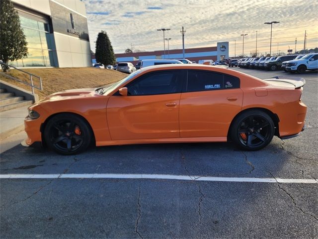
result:
[[[55,178],[87,178],[87,179],[166,179],[188,181],[215,182],[250,182],[250,183],[318,183],[315,179],[294,178],[244,178],[244,177],[206,177],[168,174],[0,174],[0,179],[55,179]]]

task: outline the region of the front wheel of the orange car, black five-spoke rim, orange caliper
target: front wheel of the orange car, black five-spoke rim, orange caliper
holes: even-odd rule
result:
[[[84,151],[92,142],[92,131],[80,116],[63,113],[49,119],[44,129],[48,147],[63,155]]]

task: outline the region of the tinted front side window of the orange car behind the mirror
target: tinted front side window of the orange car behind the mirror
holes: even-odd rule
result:
[[[162,95],[180,93],[182,88],[181,70],[159,71],[149,73],[129,83],[128,95]]]

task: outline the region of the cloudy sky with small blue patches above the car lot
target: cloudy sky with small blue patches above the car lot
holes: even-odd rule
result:
[[[98,32],[105,30],[115,53],[131,48],[163,50],[163,32],[170,49],[216,46],[229,41],[230,56],[255,52],[269,53],[270,25],[273,24],[272,53],[318,47],[318,0],[83,0],[86,5],[90,46],[95,51]],[[166,41],[167,43],[167,41]],[[167,44],[166,44],[167,49]]]

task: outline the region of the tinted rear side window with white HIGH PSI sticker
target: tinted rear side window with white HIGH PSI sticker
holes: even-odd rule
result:
[[[186,92],[239,88],[239,78],[210,71],[188,71]]]

